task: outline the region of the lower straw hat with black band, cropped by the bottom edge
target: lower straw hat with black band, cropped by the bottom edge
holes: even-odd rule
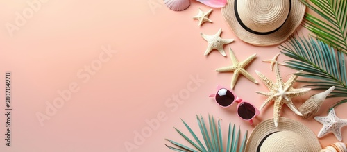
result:
[[[273,119],[267,119],[258,124],[248,138],[245,148],[247,152],[318,152],[320,150],[321,144],[312,130],[298,121],[285,117],[280,118],[278,127],[273,125]]]

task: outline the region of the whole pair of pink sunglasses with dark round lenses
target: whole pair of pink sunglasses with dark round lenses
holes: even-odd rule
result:
[[[237,115],[245,121],[249,121],[253,125],[252,119],[260,114],[260,111],[254,105],[239,99],[233,92],[227,90],[220,85],[217,86],[217,93],[211,94],[209,97],[214,97],[216,102],[223,108],[228,108],[232,103],[237,102]]]

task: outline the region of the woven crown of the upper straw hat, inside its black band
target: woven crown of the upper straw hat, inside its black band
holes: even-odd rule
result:
[[[290,0],[237,1],[239,19],[252,31],[266,33],[280,28],[291,8]]]

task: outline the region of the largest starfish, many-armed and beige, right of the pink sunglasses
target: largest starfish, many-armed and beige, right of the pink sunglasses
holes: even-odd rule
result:
[[[283,104],[286,104],[293,112],[296,113],[296,115],[302,116],[301,112],[298,111],[294,103],[291,101],[291,98],[295,96],[301,96],[309,92],[311,89],[294,89],[293,85],[296,82],[296,78],[298,78],[298,76],[296,76],[295,74],[291,76],[286,83],[284,83],[282,81],[282,77],[280,76],[280,71],[278,69],[277,63],[275,63],[275,71],[276,83],[273,83],[273,81],[269,80],[269,78],[266,78],[266,76],[255,70],[257,75],[260,77],[260,80],[262,80],[264,85],[266,85],[266,87],[270,90],[270,92],[257,92],[258,94],[262,94],[263,96],[268,96],[266,101],[264,101],[264,103],[260,106],[260,110],[262,110],[265,105],[270,103],[270,101],[275,101],[273,106],[273,121],[275,123],[275,126],[277,127],[278,121],[280,120],[280,112]],[[302,70],[297,71],[296,74],[301,72]]]

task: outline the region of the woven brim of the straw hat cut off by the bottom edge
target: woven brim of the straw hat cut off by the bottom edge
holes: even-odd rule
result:
[[[267,119],[258,124],[252,131],[251,135],[248,137],[245,151],[257,151],[258,146],[260,146],[260,142],[262,142],[262,140],[267,135],[282,130],[288,130],[292,131],[293,133],[297,133],[298,135],[302,135],[303,139],[305,139],[305,141],[309,143],[307,144],[307,146],[310,146],[310,151],[318,152],[321,150],[321,144],[319,144],[318,138],[316,137],[316,135],[314,135],[310,128],[307,128],[307,126],[304,126],[298,121],[281,117],[280,122],[278,123],[278,127],[274,126],[273,118]]]

